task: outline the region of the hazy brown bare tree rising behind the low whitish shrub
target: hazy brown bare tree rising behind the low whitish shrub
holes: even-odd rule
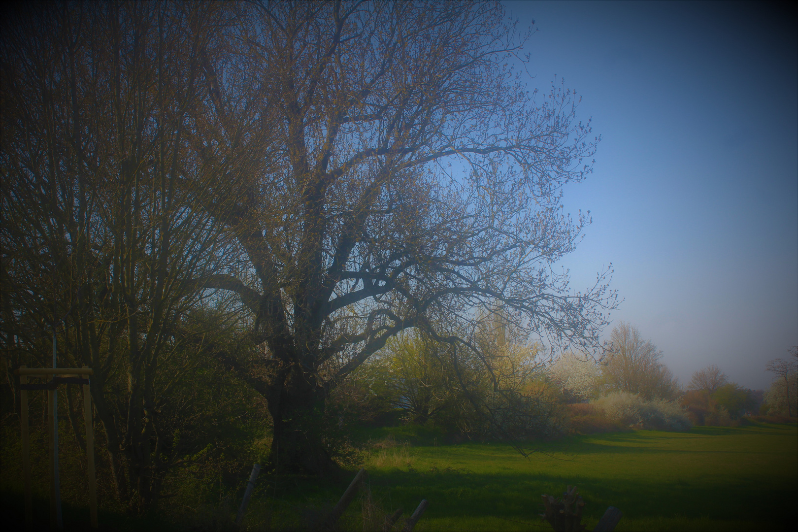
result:
[[[678,383],[659,361],[662,351],[643,340],[637,327],[621,321],[612,329],[603,374],[606,386],[619,392],[638,393],[646,399],[673,398]]]

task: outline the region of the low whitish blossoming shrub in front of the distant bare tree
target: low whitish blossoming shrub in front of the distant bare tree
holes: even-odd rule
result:
[[[692,426],[685,409],[672,400],[645,400],[637,394],[614,392],[594,404],[610,420],[630,426],[675,431],[685,431]]]

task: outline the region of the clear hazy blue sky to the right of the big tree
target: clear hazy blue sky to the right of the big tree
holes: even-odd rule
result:
[[[539,30],[532,85],[582,95],[602,135],[565,206],[593,225],[565,266],[587,286],[612,262],[637,325],[682,383],[717,364],[766,388],[798,345],[798,41],[776,6],[504,2]],[[609,329],[606,331],[607,335]]]

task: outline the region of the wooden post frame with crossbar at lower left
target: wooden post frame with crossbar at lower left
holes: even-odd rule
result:
[[[47,411],[49,413],[49,440],[50,440],[50,526],[59,527],[60,498],[57,497],[57,442],[56,434],[56,408],[54,404],[55,390],[58,384],[83,385],[83,415],[86,425],[86,457],[89,465],[89,518],[92,528],[97,528],[97,478],[94,472],[94,430],[92,422],[92,394],[89,388],[89,375],[94,372],[89,366],[82,368],[27,368],[20,366],[14,371],[19,376],[19,399],[22,413],[22,483],[25,487],[25,526],[30,529],[34,526],[33,495],[30,483],[30,428],[28,423],[28,392],[30,390],[47,390]],[[45,384],[28,384],[28,377],[53,376]]]

